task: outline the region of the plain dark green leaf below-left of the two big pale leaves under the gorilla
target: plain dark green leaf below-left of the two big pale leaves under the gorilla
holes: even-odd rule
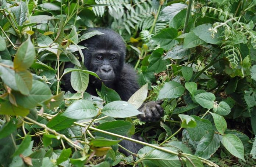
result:
[[[65,116],[62,116],[62,114],[58,114],[58,115],[54,116],[46,124],[46,126],[53,130],[60,131],[60,130],[70,127],[75,121],[76,121],[75,119],[70,119]]]

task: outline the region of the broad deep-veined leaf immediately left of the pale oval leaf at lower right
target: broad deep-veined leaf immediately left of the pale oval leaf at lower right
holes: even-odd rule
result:
[[[220,147],[220,137],[214,134],[214,130],[209,130],[199,141],[195,155],[209,159]]]

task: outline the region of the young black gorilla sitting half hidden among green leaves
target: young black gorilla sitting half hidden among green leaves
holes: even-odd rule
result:
[[[126,47],[122,37],[111,29],[89,29],[89,31],[91,30],[98,30],[104,35],[95,35],[82,41],[79,45],[88,48],[83,50],[85,67],[97,73],[101,80],[90,75],[86,92],[97,96],[96,88],[100,90],[103,82],[107,87],[115,90],[123,101],[128,101],[131,95],[139,89],[139,85],[134,69],[125,63]],[[74,65],[70,62],[65,64],[65,68],[72,67]],[[70,74],[63,77],[63,83],[64,91],[75,92],[71,87]],[[158,121],[163,115],[163,108],[160,106],[162,102],[151,101],[143,104],[139,108],[142,114],[138,115],[138,118],[142,121]],[[138,139],[136,136],[133,138]],[[141,145],[128,141],[122,141],[121,145],[134,153],[142,148]],[[127,153],[125,154],[127,155]]]

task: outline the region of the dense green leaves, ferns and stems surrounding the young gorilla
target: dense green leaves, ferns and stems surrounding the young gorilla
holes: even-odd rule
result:
[[[255,0],[0,0],[1,166],[256,165]],[[89,75],[79,42],[109,27],[142,86],[128,102]],[[80,56],[81,55],[81,56]],[[86,56],[86,55],[85,55]],[[70,61],[75,68],[64,69]],[[61,91],[71,73],[77,93]],[[136,119],[164,99],[158,123]],[[139,133],[145,142],[131,139]],[[145,145],[118,152],[122,138]]]

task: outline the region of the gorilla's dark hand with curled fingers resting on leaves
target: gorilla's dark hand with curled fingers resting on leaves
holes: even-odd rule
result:
[[[150,101],[142,105],[138,110],[143,114],[138,115],[141,121],[156,122],[163,116],[164,109],[161,107],[163,100]]]

